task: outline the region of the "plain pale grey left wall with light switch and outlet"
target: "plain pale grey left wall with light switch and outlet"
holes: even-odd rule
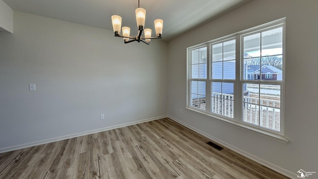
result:
[[[166,115],[167,43],[123,41],[14,11],[14,34],[0,33],[0,152]]]

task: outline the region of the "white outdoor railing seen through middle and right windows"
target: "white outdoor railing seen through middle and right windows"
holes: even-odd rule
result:
[[[270,97],[270,96],[268,96]],[[261,111],[261,112],[260,112]],[[234,118],[234,95],[212,93],[212,112]],[[257,97],[243,97],[243,121],[280,130],[280,101]]]

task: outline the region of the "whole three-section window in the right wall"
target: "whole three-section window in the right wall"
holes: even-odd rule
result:
[[[187,107],[283,135],[285,18],[188,48]]]

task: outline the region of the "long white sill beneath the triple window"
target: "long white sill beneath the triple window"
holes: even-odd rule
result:
[[[254,127],[251,127],[251,126],[248,126],[248,125],[244,125],[244,124],[239,123],[237,121],[221,118],[221,117],[215,116],[213,114],[210,114],[208,112],[204,112],[204,111],[199,111],[199,110],[193,109],[191,107],[185,107],[185,109],[187,109],[189,111],[192,111],[192,112],[195,112],[195,113],[198,113],[198,114],[201,114],[201,115],[204,115],[204,116],[208,116],[208,117],[210,117],[212,119],[216,119],[216,120],[218,120],[220,122],[223,122],[225,124],[237,127],[239,129],[245,130],[247,132],[251,132],[253,134],[257,134],[257,135],[266,137],[268,139],[271,139],[271,140],[274,140],[274,141],[277,141],[277,142],[280,142],[280,143],[283,143],[283,144],[287,144],[289,142],[289,140],[286,139],[283,135],[274,134],[274,133],[271,133],[271,132],[267,132],[265,130],[261,130],[261,129],[254,128]]]

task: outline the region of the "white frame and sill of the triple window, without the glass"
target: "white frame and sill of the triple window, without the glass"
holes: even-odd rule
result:
[[[205,116],[209,116],[212,119],[219,120],[221,122],[224,122],[226,124],[232,125],[234,127],[238,127],[240,129],[243,129],[245,131],[249,131],[251,133],[255,133],[261,136],[264,136],[266,138],[281,142],[281,143],[287,143],[289,140],[285,138],[285,130],[284,130],[284,86],[285,86],[285,35],[286,35],[286,29],[285,29],[285,23],[286,23],[286,18],[281,18],[272,22],[268,22],[266,24],[262,24],[250,29],[246,29],[231,35],[227,35],[225,37],[221,37],[212,41],[208,41],[202,44],[198,44],[192,47],[187,48],[187,107],[186,109],[203,114]],[[246,36],[247,34],[252,34],[252,33],[258,33],[261,31],[266,31],[270,29],[274,29],[277,27],[282,27],[283,28],[283,79],[282,81],[267,81],[265,79],[259,80],[258,82],[260,84],[274,84],[274,85],[280,85],[280,131],[273,131],[267,128],[263,128],[260,126],[255,126],[252,124],[248,124],[246,122],[242,121],[242,100],[243,100],[243,95],[242,95],[242,84],[243,83],[249,83],[251,80],[243,80],[243,63],[241,62],[243,59],[243,53],[242,47],[243,47],[243,40],[242,37]],[[224,42],[227,40],[233,40],[236,39],[236,80],[233,81],[234,83],[234,118],[229,118],[226,116],[218,115],[215,113],[211,112],[211,84],[212,84],[212,59],[210,57],[210,54],[212,54],[212,44]],[[207,47],[207,79],[198,79],[199,81],[205,81],[206,82],[206,110],[200,110],[195,107],[191,106],[191,96],[190,96],[190,84],[192,80],[196,79],[191,79],[191,50],[201,48],[203,46]],[[213,80],[215,81],[215,80]],[[217,80],[222,82],[223,80]],[[229,80],[226,80],[224,82],[227,82]],[[232,80],[230,80],[232,81]]]

